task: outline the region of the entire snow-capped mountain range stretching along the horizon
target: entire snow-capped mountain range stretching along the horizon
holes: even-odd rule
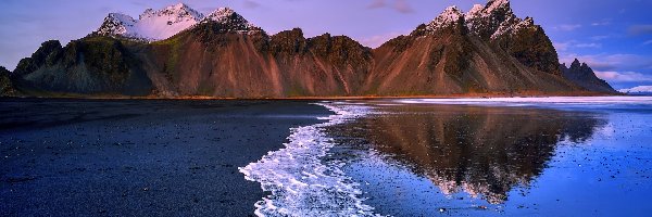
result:
[[[534,18],[509,0],[450,7],[411,34],[371,49],[347,36],[268,35],[228,8],[179,3],[118,13],[63,47],[46,41],[3,94],[30,97],[302,98],[614,94],[586,64],[560,65]]]

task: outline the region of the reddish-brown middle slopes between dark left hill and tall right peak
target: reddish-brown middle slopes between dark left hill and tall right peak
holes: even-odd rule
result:
[[[140,54],[156,89],[175,97],[352,95],[369,68],[369,49],[348,37],[220,29],[202,24]]]

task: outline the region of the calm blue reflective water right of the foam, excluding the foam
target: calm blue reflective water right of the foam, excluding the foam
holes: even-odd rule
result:
[[[650,216],[652,101],[617,99],[348,102],[324,162],[380,215]]]

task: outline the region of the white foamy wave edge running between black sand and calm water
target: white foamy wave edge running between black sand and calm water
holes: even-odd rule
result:
[[[250,181],[272,194],[255,204],[258,216],[374,216],[365,205],[359,183],[342,171],[338,161],[322,161],[335,145],[324,127],[349,122],[369,113],[369,107],[347,103],[321,103],[335,115],[327,123],[291,129],[286,148],[241,167]]]

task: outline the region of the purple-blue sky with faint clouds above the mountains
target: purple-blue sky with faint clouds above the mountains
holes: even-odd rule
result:
[[[468,11],[486,0],[2,0],[0,65],[15,68],[46,40],[79,39],[108,13],[138,17],[178,2],[202,13],[233,8],[271,35],[301,27],[306,37],[347,35],[374,48],[449,5]],[[652,86],[652,0],[512,0],[512,8],[546,29],[562,63],[587,62],[616,89]]]

